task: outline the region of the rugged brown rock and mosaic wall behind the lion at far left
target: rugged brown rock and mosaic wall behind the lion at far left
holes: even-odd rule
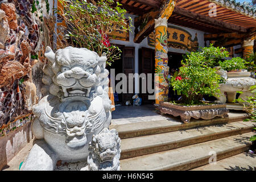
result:
[[[47,3],[0,0],[0,137],[30,122],[31,106],[40,99],[44,49],[52,40],[49,28],[54,28],[54,20],[43,16],[43,11],[49,13]],[[39,97],[31,98],[27,90]]]

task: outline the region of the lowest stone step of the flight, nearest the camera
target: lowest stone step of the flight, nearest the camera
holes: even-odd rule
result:
[[[250,137],[253,132],[234,135],[191,146],[137,156],[121,160],[123,171],[155,171],[155,170],[188,170],[209,163],[212,152],[216,160],[222,160],[241,154],[251,146]],[[142,143],[139,143],[142,144]],[[122,145],[122,144],[121,144]]]

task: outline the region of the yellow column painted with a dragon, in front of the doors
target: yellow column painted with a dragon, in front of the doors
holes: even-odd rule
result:
[[[167,21],[175,5],[176,0],[166,1],[160,10],[160,17],[155,19],[155,104],[159,104],[160,101],[168,101]]]

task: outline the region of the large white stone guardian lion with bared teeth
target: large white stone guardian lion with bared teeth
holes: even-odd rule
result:
[[[31,129],[37,140],[22,170],[53,170],[60,160],[89,160],[93,136],[97,138],[103,129],[109,133],[102,147],[108,147],[109,141],[116,141],[118,136],[115,130],[108,130],[112,116],[106,55],[100,57],[86,48],[73,47],[54,53],[47,47],[45,56],[49,62],[43,68],[42,93],[46,96],[32,107],[36,119]],[[120,154],[115,155],[119,160]]]

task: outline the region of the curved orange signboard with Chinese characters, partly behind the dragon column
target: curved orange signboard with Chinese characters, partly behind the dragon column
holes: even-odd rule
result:
[[[148,46],[155,47],[155,32],[151,32],[147,40]],[[167,28],[167,42],[168,47],[176,49],[197,51],[199,48],[199,43],[197,42],[197,34],[195,35],[195,39],[192,40],[192,35],[188,31],[173,26],[168,26]]]

